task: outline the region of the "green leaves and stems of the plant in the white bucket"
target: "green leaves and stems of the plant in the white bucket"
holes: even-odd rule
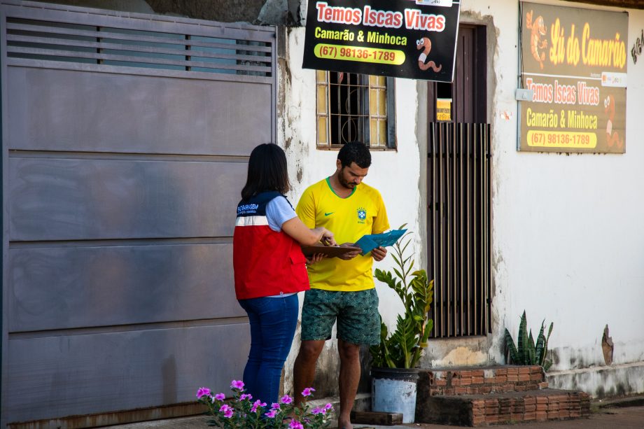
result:
[[[399,229],[403,227],[405,225]],[[398,315],[395,331],[391,335],[381,318],[380,344],[369,349],[374,367],[416,367],[433,328],[429,309],[433,300],[434,281],[428,281],[424,269],[412,272],[414,254],[407,254],[407,247],[412,241],[410,234],[412,233],[407,232],[393,245],[393,274],[380,269],[374,271],[376,279],[393,289],[405,307],[405,313]]]

